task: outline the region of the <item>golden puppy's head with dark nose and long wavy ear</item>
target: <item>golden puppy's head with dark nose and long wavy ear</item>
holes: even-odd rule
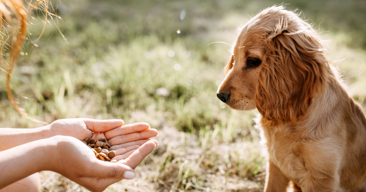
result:
[[[243,26],[225,70],[217,97],[233,109],[257,108],[272,126],[303,118],[329,76],[318,33],[283,6]]]

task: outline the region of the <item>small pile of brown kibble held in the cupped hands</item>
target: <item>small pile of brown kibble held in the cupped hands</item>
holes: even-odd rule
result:
[[[117,162],[116,159],[111,161],[111,158],[116,156],[116,152],[109,149],[111,144],[107,142],[107,139],[100,138],[99,141],[95,139],[86,138],[83,141],[84,144],[89,145],[88,147],[95,153],[95,157],[102,161]]]

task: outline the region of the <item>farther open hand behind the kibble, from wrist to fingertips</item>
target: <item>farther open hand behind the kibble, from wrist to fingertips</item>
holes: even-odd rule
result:
[[[147,123],[124,125],[123,120],[96,120],[89,118],[69,118],[56,120],[45,126],[52,135],[72,136],[79,140],[104,137],[112,139],[112,145],[148,139],[157,136],[157,130],[151,129]]]

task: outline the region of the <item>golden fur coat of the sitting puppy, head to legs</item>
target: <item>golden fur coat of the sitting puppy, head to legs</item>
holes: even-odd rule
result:
[[[244,25],[232,51],[217,93],[230,94],[233,109],[261,114],[265,191],[286,191],[290,181],[294,191],[366,191],[366,119],[317,31],[273,6]]]

